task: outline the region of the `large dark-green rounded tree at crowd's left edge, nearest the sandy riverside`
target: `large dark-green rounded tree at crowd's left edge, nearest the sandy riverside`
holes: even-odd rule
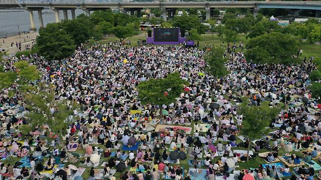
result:
[[[38,53],[47,60],[59,60],[66,58],[75,52],[75,41],[56,23],[47,24],[40,29],[36,39],[35,48]]]

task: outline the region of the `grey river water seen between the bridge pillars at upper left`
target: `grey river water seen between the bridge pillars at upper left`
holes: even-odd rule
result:
[[[14,11],[14,12],[13,12]],[[76,10],[76,16],[84,13],[82,10]],[[36,28],[39,29],[39,18],[38,12],[34,11],[34,20]],[[60,11],[60,19],[63,19],[63,12]],[[43,24],[55,22],[54,11],[49,9],[42,10]],[[71,19],[71,12],[68,11],[68,18]],[[30,29],[30,19],[29,13],[25,10],[0,10],[0,38],[2,36],[15,36],[18,34],[18,26],[20,32],[29,32]]]

